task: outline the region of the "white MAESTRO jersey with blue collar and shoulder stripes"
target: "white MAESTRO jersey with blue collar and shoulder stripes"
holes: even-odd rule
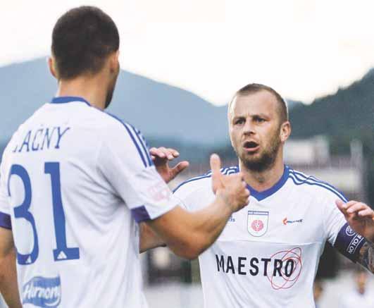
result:
[[[327,240],[335,244],[346,223],[335,205],[344,196],[287,166],[269,190],[248,188],[249,205],[232,214],[199,257],[204,306],[315,307],[312,286],[320,254]],[[187,180],[174,195],[189,211],[201,209],[214,199],[211,173]]]

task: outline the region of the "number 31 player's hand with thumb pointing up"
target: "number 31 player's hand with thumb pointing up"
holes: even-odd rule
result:
[[[220,173],[220,157],[211,155],[212,189],[224,199],[232,211],[239,211],[249,204],[249,190],[242,173],[223,175]]]

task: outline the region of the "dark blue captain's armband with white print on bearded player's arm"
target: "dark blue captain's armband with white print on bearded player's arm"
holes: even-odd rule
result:
[[[354,232],[349,224],[346,223],[339,230],[334,247],[345,257],[356,263],[359,259],[361,247],[366,242],[366,238]]]

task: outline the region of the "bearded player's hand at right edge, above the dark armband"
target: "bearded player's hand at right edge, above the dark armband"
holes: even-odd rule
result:
[[[337,208],[342,212],[349,226],[370,242],[374,242],[374,211],[368,205],[349,201],[347,203],[338,199]]]

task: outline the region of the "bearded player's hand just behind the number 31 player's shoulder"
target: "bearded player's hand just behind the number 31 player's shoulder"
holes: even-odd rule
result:
[[[181,161],[174,168],[170,168],[169,161],[179,156],[179,153],[175,149],[167,149],[166,147],[152,147],[149,150],[151,158],[154,161],[157,172],[161,175],[166,183],[173,180],[179,173],[189,166],[188,161]]]

